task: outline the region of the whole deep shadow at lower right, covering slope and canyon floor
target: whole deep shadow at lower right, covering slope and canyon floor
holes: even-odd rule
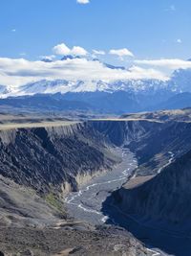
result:
[[[102,204],[102,212],[147,246],[191,255],[191,151],[134,188],[128,183]]]

